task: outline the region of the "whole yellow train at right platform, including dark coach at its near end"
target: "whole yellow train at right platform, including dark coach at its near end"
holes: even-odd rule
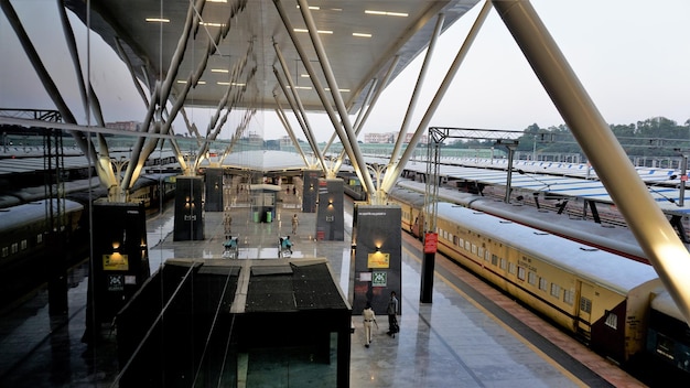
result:
[[[423,194],[398,187],[389,203],[401,206],[403,230],[423,233]],[[439,252],[624,366],[654,360],[690,373],[690,328],[651,266],[525,218],[436,206]]]

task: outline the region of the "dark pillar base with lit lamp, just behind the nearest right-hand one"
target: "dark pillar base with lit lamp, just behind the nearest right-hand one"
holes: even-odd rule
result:
[[[343,209],[343,180],[319,180],[319,206],[316,209],[316,239],[326,241],[343,241],[344,209]]]

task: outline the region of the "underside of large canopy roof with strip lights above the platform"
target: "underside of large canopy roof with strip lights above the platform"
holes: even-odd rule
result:
[[[282,73],[276,43],[304,108],[323,110],[278,11],[277,4],[284,10],[293,31],[305,29],[298,1],[197,0],[192,9],[193,2],[95,0],[90,1],[90,24],[116,51],[121,44],[120,55],[131,62],[138,77],[149,87],[154,79],[164,79],[169,72],[174,72],[176,55],[183,55],[183,60],[172,77],[174,96],[180,96],[184,82],[203,68],[200,83],[187,94],[186,106],[216,107],[228,87],[246,87],[236,106],[273,109],[273,94],[281,95],[273,68]],[[400,57],[395,77],[429,44],[439,13],[444,14],[446,29],[477,2],[328,0],[310,1],[309,9],[345,106],[352,112],[364,100],[371,80],[384,77],[393,57]],[[85,1],[67,0],[66,6],[86,23]],[[192,26],[188,40],[181,40],[187,13],[201,17],[201,23]],[[217,34],[222,37],[216,44],[212,36]],[[295,32],[295,36],[322,85],[328,87],[309,33]],[[186,45],[182,43],[185,41]],[[206,58],[207,65],[200,66]],[[306,87],[311,89],[303,89]]]

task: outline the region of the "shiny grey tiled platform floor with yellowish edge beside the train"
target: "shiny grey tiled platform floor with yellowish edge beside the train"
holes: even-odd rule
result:
[[[238,259],[278,260],[278,238],[290,235],[293,258],[327,258],[347,294],[352,203],[346,201],[345,240],[316,241],[315,214],[300,211],[299,192],[288,194],[272,223],[255,223],[241,202],[230,206]],[[151,271],[168,258],[223,259],[223,213],[205,214],[205,239],[173,241],[173,208],[148,220]],[[290,218],[298,214],[298,233]],[[386,335],[378,316],[365,347],[362,316],[354,312],[351,387],[642,387],[613,363],[543,322],[448,260],[436,256],[433,303],[420,303],[421,245],[403,233],[400,333]],[[69,313],[51,317],[47,295],[36,293],[0,316],[0,387],[110,387],[117,379],[115,333],[103,327],[87,347],[85,327],[88,267],[71,272]],[[163,357],[164,355],[161,355]],[[274,356],[274,355],[273,355]],[[267,358],[270,358],[267,356]],[[274,358],[272,358],[274,362]],[[247,360],[247,387],[325,387],[300,365],[277,373],[261,358]]]

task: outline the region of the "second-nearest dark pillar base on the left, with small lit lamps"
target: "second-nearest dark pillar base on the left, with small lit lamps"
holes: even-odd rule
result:
[[[204,239],[204,185],[200,176],[177,176],[175,185],[175,241]]]

